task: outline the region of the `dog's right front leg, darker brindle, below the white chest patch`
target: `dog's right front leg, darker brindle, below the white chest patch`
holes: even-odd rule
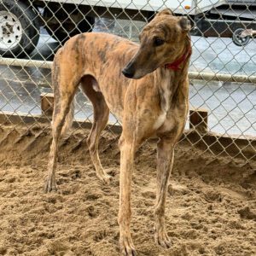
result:
[[[154,209],[154,240],[161,247],[165,248],[171,247],[171,241],[166,232],[165,210],[167,186],[172,172],[173,148],[174,143],[172,140],[161,138],[159,143],[157,143],[157,193]]]

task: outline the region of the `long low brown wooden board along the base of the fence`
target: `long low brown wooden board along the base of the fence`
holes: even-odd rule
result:
[[[0,113],[1,124],[26,124],[26,123],[48,123],[50,122],[49,116],[35,115],[27,113]],[[91,128],[91,122],[84,122],[83,120],[75,119],[73,127]],[[3,126],[2,126],[3,127]],[[49,125],[50,127],[50,125]],[[108,124],[105,130],[110,130],[113,133],[120,134],[122,127],[120,125]],[[215,132],[207,131],[204,134],[198,131],[184,131],[181,138],[182,143],[192,144],[194,147],[201,148],[202,150],[210,149],[213,154],[227,155],[244,159],[256,160],[256,137],[249,137],[243,135],[222,135]]]

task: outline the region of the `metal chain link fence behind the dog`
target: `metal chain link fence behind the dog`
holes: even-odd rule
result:
[[[190,115],[181,141],[216,155],[256,158],[256,1],[53,0],[0,2],[0,121],[49,121],[51,61],[79,32],[111,32],[138,41],[161,9],[192,24]],[[50,109],[49,109],[50,110]],[[90,102],[79,92],[75,119],[91,123]],[[119,121],[110,116],[108,131]],[[77,122],[83,125],[83,122]],[[43,129],[43,126],[42,126]]]

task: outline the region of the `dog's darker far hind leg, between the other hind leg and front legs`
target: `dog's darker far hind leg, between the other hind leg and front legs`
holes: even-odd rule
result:
[[[98,153],[98,143],[102,130],[108,123],[109,109],[99,90],[96,79],[87,75],[81,79],[81,86],[85,95],[90,99],[93,106],[94,121],[87,139],[90,150],[90,157],[96,169],[96,176],[99,177],[104,183],[109,183],[110,177],[102,168],[102,164]]]

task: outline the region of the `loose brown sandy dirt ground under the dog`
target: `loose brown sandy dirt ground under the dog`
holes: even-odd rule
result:
[[[43,128],[43,129],[42,129]],[[0,255],[119,255],[119,149],[105,132],[95,175],[78,130],[61,141],[57,193],[44,194],[50,131],[44,125],[0,128]],[[131,232],[138,255],[256,255],[255,162],[214,158],[177,146],[166,203],[172,248],[154,244],[154,143],[137,153]]]

